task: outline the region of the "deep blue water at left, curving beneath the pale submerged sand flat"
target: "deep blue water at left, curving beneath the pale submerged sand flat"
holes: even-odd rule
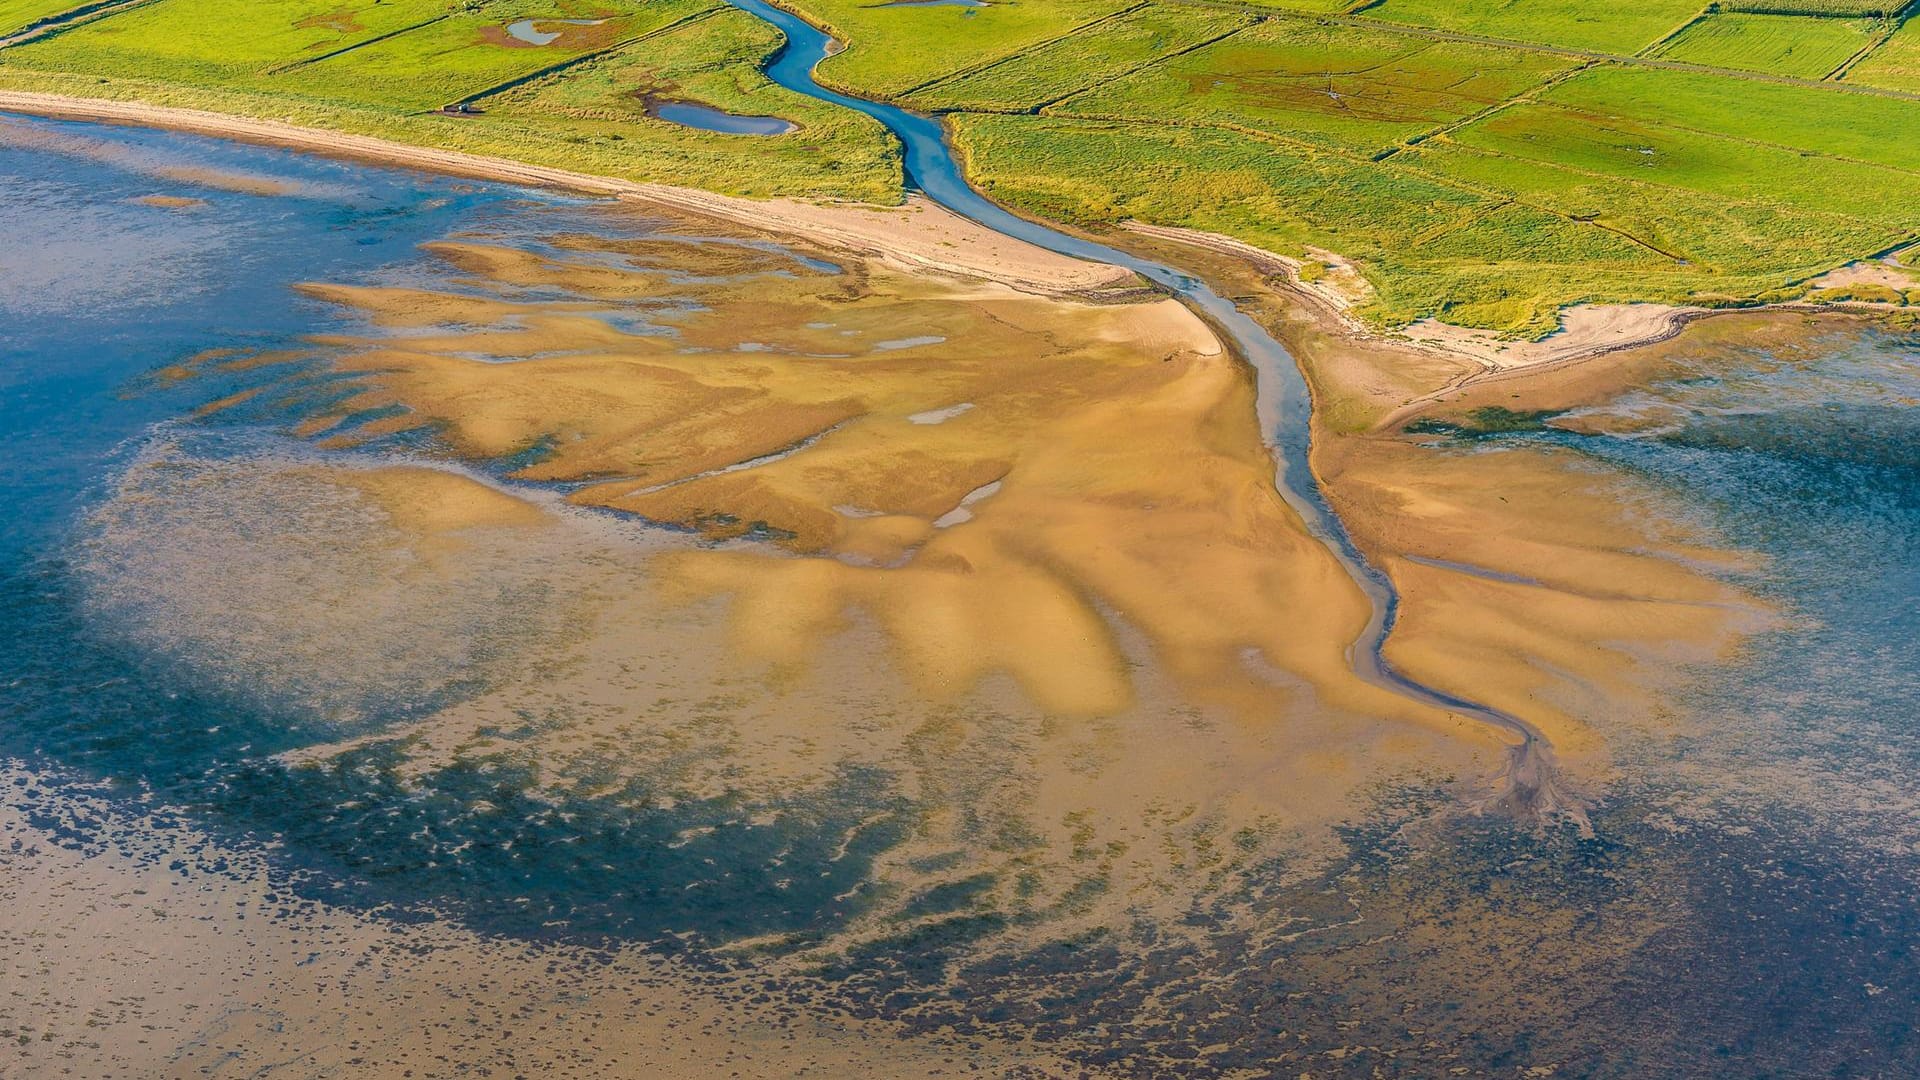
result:
[[[169,179],[180,175],[192,179]],[[280,194],[234,190],[263,181]],[[897,807],[868,776],[849,773],[804,805],[756,805],[747,821],[732,796],[660,809],[636,790],[555,807],[532,790],[528,763],[449,769],[420,790],[397,778],[394,746],[288,769],[273,755],[405,723],[470,686],[451,678],[440,696],[361,701],[372,715],[342,730],[298,701],[234,694],[192,663],[129,646],[86,605],[75,559],[88,511],[156,432],[184,430],[200,455],[248,454],[300,415],[265,404],[182,425],[198,405],[282,373],[207,369],[179,384],[156,373],[205,350],[300,352],[309,334],[353,329],[294,292],[298,282],[457,288],[419,252],[428,240],[538,248],[561,233],[653,236],[659,221],[209,138],[17,119],[0,121],[0,188],[12,196],[0,204],[0,619],[12,642],[0,755],[44,769],[46,786],[31,792],[40,803],[54,807],[61,782],[106,780],[127,798],[198,807],[217,834],[284,844],[288,869],[332,899],[455,903],[528,934],[730,938],[856,909],[837,897],[895,836]],[[194,204],[136,202],[156,194]],[[478,803],[490,813],[468,813]],[[689,828],[701,836],[685,842]],[[826,872],[776,888],[789,859]],[[689,890],[693,880],[708,888]]]

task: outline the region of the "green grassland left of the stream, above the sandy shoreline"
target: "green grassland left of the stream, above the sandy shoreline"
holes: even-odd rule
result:
[[[724,194],[899,202],[885,129],[760,75],[780,46],[764,23],[712,0],[624,8],[547,6],[532,37],[553,40],[534,46],[505,35],[526,12],[515,6],[161,0],[0,50],[0,86],[288,119]],[[649,117],[647,94],[783,115],[799,131],[691,131]],[[459,100],[478,111],[440,111]]]

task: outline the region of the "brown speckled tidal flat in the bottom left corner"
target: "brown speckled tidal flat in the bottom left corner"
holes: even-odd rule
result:
[[[1100,1076],[770,999],[764,974],[301,901],[255,857],[121,828],[132,851],[83,855],[0,805],[4,1076]]]

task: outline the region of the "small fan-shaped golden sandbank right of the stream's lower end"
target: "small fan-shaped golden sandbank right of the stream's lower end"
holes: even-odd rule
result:
[[[1726,659],[1768,621],[1722,577],[1747,559],[1663,525],[1678,507],[1571,452],[1350,436],[1319,461],[1400,588],[1396,667],[1524,717],[1563,761],[1603,753],[1596,719],[1649,717],[1659,671]]]

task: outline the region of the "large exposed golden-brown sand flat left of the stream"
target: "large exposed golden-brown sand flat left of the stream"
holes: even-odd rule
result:
[[[751,250],[728,261],[756,258],[758,273],[699,286],[620,246],[601,254],[624,265],[432,252],[474,296],[309,290],[376,325],[445,323],[330,342],[365,388],[328,444],[430,425],[476,459],[541,446],[516,479],[584,480],[570,502],[714,540],[766,538],[776,550],[659,567],[672,596],[733,598],[745,655],[806,665],[866,613],[924,694],[1006,673],[1046,711],[1102,715],[1135,700],[1125,626],[1188,694],[1246,717],[1273,713],[1279,676],[1329,705],[1438,723],[1350,676],[1365,601],[1275,494],[1248,375],[1173,302],[795,271]],[[534,286],[651,311],[676,334],[630,334],[578,302],[515,307]]]

